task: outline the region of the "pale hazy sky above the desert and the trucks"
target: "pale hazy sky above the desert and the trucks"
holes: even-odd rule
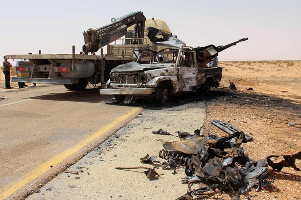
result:
[[[71,53],[82,32],[134,11],[167,22],[189,46],[249,40],[219,54],[219,60],[301,60],[300,0],[173,0],[1,2],[0,54]]]

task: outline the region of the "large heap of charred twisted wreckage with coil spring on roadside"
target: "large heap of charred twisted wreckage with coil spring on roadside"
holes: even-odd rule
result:
[[[159,157],[177,160],[175,155],[186,156],[185,159],[178,156],[182,161],[177,163],[186,166],[187,179],[196,180],[193,177],[197,176],[198,181],[208,185],[197,189],[196,194],[205,193],[212,189],[211,185],[216,185],[214,188],[221,190],[236,190],[239,197],[255,185],[258,188],[266,186],[268,163],[266,160],[251,160],[245,155],[241,145],[248,142],[245,133],[233,132],[226,137],[208,135],[165,142]]]

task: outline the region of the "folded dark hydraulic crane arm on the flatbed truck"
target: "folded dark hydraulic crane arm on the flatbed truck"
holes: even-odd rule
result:
[[[136,24],[134,28],[133,38],[144,37],[145,16],[142,12],[132,12],[120,18],[112,18],[111,24],[102,26],[100,28],[90,28],[83,32],[85,44],[83,51],[88,54],[89,52],[96,52],[101,47],[110,44],[111,42],[126,35],[127,28]],[[142,44],[143,41],[136,39],[133,44]]]

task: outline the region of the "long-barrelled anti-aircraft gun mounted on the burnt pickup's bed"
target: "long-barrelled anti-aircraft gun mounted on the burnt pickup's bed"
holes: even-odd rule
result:
[[[210,44],[208,46],[203,46],[203,47],[198,46],[194,48],[196,52],[196,60],[197,60],[198,67],[207,67],[208,62],[214,57],[218,56],[219,52],[246,40],[248,40],[248,38],[242,38],[236,42],[224,46],[223,45],[215,46],[213,44]]]

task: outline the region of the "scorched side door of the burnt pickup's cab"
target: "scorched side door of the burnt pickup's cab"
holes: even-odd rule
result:
[[[194,51],[182,51],[179,58],[179,91],[194,91],[197,86],[197,68]]]

